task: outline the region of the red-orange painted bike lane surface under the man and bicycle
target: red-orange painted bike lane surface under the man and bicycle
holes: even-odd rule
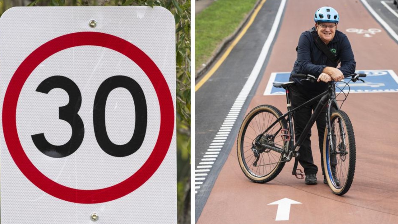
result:
[[[275,38],[269,61],[248,111],[260,104],[271,104],[286,112],[284,95],[265,96],[264,90],[273,72],[289,72],[296,59],[295,47],[300,33],[314,24],[317,8],[332,6],[338,10],[338,29],[346,33],[357,61],[357,70],[393,70],[398,72],[398,44],[380,26],[360,1],[289,0],[283,22]],[[347,29],[380,29],[371,37]],[[259,46],[261,47],[261,46]],[[366,79],[366,78],[365,78]],[[398,93],[350,93],[343,107],[353,124],[357,159],[351,189],[334,195],[322,183],[305,185],[291,175],[293,161],[273,181],[257,184],[240,169],[235,146],[231,149],[209,195],[198,224],[217,223],[398,223]],[[246,114],[248,113],[246,111]],[[239,124],[241,121],[237,121]],[[316,128],[312,128],[314,161],[320,167]],[[289,198],[300,204],[271,204]],[[277,220],[278,212],[288,220]],[[281,214],[279,214],[279,219]]]

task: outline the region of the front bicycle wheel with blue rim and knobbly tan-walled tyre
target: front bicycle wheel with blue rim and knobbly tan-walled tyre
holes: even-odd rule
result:
[[[326,127],[324,135],[323,163],[326,179],[334,194],[344,195],[350,189],[355,173],[354,130],[342,110],[332,113],[330,124],[330,130]]]

